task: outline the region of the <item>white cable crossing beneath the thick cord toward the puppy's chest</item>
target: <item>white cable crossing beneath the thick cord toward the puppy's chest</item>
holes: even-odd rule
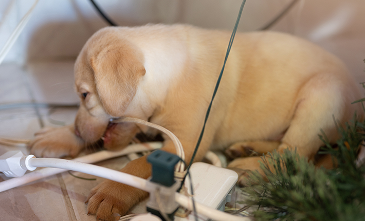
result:
[[[152,151],[156,149],[160,149],[162,147],[161,142],[150,142],[150,143],[141,143],[141,144],[132,144],[127,146],[125,149],[121,151],[99,151],[94,154],[89,154],[86,156],[78,157],[73,159],[74,161],[84,162],[84,163],[96,163],[102,160],[119,157],[123,155],[127,155],[130,153],[143,152],[143,151]],[[59,174],[65,172],[66,170],[56,169],[56,168],[44,168],[40,170],[36,170],[30,173],[25,174],[22,177],[14,177],[8,180],[4,180],[0,182],[0,192],[10,190],[15,187],[19,187],[25,185],[27,183],[52,176],[55,174]]]

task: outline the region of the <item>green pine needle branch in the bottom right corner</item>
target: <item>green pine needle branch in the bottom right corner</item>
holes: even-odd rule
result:
[[[364,220],[365,166],[356,165],[359,146],[364,140],[365,124],[357,122],[337,125],[341,138],[333,149],[325,134],[322,154],[331,154],[338,168],[326,170],[300,157],[296,151],[269,153],[263,157],[261,169],[251,172],[246,204],[257,206],[256,220]],[[271,170],[270,170],[271,168]]]

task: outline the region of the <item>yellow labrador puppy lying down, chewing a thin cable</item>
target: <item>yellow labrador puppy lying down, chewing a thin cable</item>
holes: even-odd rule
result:
[[[40,131],[29,145],[31,153],[76,156],[100,139],[106,149],[122,148],[140,128],[109,119],[129,116],[172,131],[189,162],[229,38],[230,32],[186,25],[101,29],[76,61],[81,103],[75,125]],[[208,149],[230,147],[227,153],[240,158],[228,167],[239,175],[259,169],[259,157],[243,158],[251,151],[297,148],[313,160],[322,145],[320,130],[335,141],[333,115],[343,123],[355,111],[361,114],[359,105],[351,105],[359,97],[343,63],[321,48],[282,33],[238,33],[195,160]],[[162,149],[175,153],[167,137]],[[145,157],[121,171],[142,178],[151,174]],[[88,212],[111,220],[145,197],[143,191],[104,181],[91,191]]]

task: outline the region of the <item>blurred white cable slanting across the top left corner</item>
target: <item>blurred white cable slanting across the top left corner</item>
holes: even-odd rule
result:
[[[36,4],[38,4],[38,1],[39,0],[35,0],[32,7],[24,15],[23,19],[19,22],[19,24],[14,29],[14,31],[11,33],[9,39],[6,41],[4,48],[0,51],[0,64],[4,61],[6,54],[10,51],[10,49],[13,46],[13,44],[15,43],[16,39],[22,33],[25,25],[28,23],[28,21],[30,19],[30,15],[32,14],[33,9],[35,8]]]

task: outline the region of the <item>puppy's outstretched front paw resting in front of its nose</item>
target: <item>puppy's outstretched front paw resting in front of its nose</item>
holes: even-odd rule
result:
[[[34,136],[28,148],[36,157],[75,157],[85,147],[85,142],[75,135],[72,125],[43,128]]]

